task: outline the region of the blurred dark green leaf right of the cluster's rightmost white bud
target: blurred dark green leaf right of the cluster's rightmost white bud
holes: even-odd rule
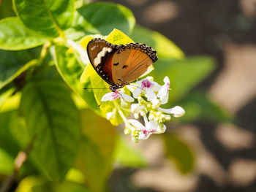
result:
[[[203,91],[189,93],[184,99],[177,103],[184,107],[186,115],[176,120],[185,122],[200,120],[216,122],[232,122],[234,117],[212,101]]]

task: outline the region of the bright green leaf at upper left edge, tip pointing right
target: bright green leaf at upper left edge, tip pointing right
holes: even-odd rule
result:
[[[47,40],[23,26],[18,18],[0,21],[0,49],[25,50],[42,45]]]

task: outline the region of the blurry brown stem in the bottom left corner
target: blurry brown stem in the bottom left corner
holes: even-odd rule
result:
[[[9,191],[10,187],[12,186],[12,183],[15,181],[15,178],[18,175],[18,172],[20,171],[20,167],[24,164],[24,162],[27,160],[29,151],[32,148],[34,139],[30,142],[28,147],[26,147],[26,150],[20,151],[18,155],[15,158],[14,161],[14,170],[10,177],[7,177],[6,180],[1,185],[0,192],[7,192]]]

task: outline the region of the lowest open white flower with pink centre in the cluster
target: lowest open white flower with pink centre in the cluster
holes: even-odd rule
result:
[[[135,126],[139,129],[138,139],[148,139],[151,134],[162,134],[163,132],[165,132],[165,125],[159,124],[154,120],[148,121],[146,116],[143,116],[143,118],[145,121],[145,126],[143,126],[143,124],[141,124],[138,120],[129,120],[129,123],[131,123],[132,126]]]

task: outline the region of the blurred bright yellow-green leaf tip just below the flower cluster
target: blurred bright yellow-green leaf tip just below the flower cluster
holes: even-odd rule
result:
[[[128,145],[124,137],[118,137],[114,159],[118,165],[142,168],[146,167],[146,160],[138,148]]]

